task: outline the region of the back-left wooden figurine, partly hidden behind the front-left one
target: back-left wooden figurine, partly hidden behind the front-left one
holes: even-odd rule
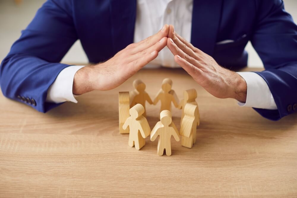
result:
[[[146,85],[141,80],[134,80],[133,87],[135,90],[130,92],[130,108],[135,104],[141,104],[144,107],[143,116],[146,117],[146,101],[149,104],[153,104],[149,94],[144,91],[146,89]]]

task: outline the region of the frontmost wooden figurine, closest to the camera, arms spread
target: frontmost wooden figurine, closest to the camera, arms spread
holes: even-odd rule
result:
[[[171,135],[174,137],[176,141],[179,141],[179,134],[175,124],[172,122],[172,116],[170,111],[163,110],[160,113],[161,121],[157,122],[154,129],[151,131],[151,141],[156,140],[159,135],[158,141],[158,155],[162,156],[164,149],[166,151],[166,155],[171,155],[171,143],[170,138]]]

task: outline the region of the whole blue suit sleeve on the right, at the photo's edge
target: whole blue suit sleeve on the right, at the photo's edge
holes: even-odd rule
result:
[[[251,42],[265,67],[256,73],[266,81],[277,110],[254,109],[276,121],[297,112],[297,26],[282,0],[256,1],[256,9]]]

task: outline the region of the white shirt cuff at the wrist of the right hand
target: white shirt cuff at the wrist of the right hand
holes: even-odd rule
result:
[[[277,110],[277,105],[266,81],[255,72],[237,72],[247,83],[247,101],[241,107]]]

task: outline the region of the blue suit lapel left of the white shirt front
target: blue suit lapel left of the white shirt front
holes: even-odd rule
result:
[[[136,0],[110,0],[113,54],[133,43]]]

